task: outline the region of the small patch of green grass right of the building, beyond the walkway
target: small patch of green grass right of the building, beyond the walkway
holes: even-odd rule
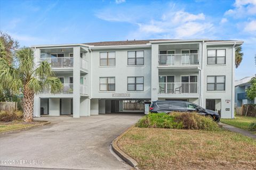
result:
[[[237,128],[241,128],[249,131],[249,125],[252,122],[256,122],[256,117],[249,116],[235,116],[235,118],[222,118],[220,120],[222,123],[229,124],[231,126],[235,126]]]

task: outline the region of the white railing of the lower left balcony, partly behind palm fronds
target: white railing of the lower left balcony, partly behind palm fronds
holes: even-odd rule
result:
[[[51,88],[46,87],[44,88],[40,94],[52,94]],[[63,83],[62,84],[62,89],[55,91],[54,94],[60,95],[60,94],[73,94],[73,83]],[[89,86],[87,85],[80,85],[80,94],[82,95],[89,95]]]

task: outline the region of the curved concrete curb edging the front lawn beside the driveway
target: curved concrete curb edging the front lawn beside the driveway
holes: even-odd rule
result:
[[[117,137],[116,139],[114,139],[111,143],[113,151],[116,153],[116,155],[118,155],[120,158],[122,158],[127,164],[131,165],[134,168],[139,169],[138,163],[131,158],[130,156],[128,156],[127,154],[125,154],[125,152],[123,152],[117,145],[117,142],[119,139],[121,139],[127,132],[129,132],[132,128],[134,127],[131,126],[130,128],[126,129],[121,135],[119,135],[119,137]]]

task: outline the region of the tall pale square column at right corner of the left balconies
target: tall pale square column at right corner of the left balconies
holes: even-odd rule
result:
[[[73,117],[80,117],[80,47],[74,47],[73,54]]]

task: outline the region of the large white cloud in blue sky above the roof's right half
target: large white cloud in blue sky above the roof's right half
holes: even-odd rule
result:
[[[162,19],[139,23],[139,29],[131,33],[132,38],[159,36],[174,39],[202,38],[212,31],[213,24],[205,21],[203,13],[191,14],[183,10],[167,12]]]

